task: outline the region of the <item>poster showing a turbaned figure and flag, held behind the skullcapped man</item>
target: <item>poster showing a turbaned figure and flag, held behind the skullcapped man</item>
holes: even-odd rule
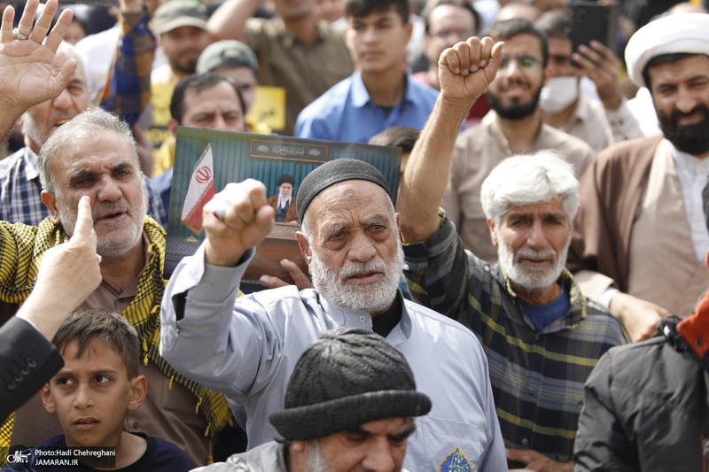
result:
[[[201,228],[202,207],[229,182],[256,179],[266,185],[267,197],[279,201],[279,183],[292,182],[291,197],[298,198],[300,182],[310,171],[332,159],[361,159],[384,174],[396,204],[399,187],[401,148],[369,144],[339,143],[280,135],[256,135],[177,128],[175,166],[168,208],[168,251],[165,275],[177,263],[197,250],[206,237]],[[291,199],[291,205],[295,202]],[[292,217],[291,217],[292,218]],[[261,290],[261,275],[275,275],[292,282],[280,267],[281,259],[291,259],[304,272],[308,266],[300,254],[297,218],[277,222],[259,246],[242,281],[244,290]]]

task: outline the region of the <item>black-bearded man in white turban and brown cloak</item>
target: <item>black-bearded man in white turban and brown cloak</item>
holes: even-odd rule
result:
[[[707,286],[701,191],[709,176],[709,15],[652,21],[630,38],[630,78],[651,91],[663,135],[618,143],[581,180],[569,269],[633,340],[684,315]]]

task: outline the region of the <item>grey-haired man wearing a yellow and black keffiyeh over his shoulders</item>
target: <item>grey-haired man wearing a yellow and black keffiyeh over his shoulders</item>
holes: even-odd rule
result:
[[[165,231],[145,216],[128,126],[101,109],[83,112],[43,144],[39,165],[51,216],[38,227],[0,222],[0,299],[19,303],[27,298],[43,253],[68,241],[78,201],[89,195],[103,282],[82,306],[117,310],[137,329],[143,346],[140,373],[148,378],[148,398],[127,416],[125,429],[171,441],[193,466],[205,464],[210,440],[230,421],[230,410],[221,394],[179,375],[160,357]],[[0,429],[0,448],[36,445],[60,433],[55,417],[33,398]]]

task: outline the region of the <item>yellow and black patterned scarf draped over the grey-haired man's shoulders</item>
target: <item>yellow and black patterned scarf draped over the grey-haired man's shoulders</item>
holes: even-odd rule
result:
[[[152,360],[170,379],[170,385],[180,383],[198,398],[195,411],[205,415],[208,422],[205,436],[214,439],[216,433],[230,422],[231,413],[226,398],[178,374],[160,357],[160,300],[167,282],[162,277],[166,250],[165,230],[146,216],[144,232],[151,242],[147,251],[148,262],[138,279],[136,298],[121,314],[138,332],[143,346],[144,364]],[[64,230],[49,218],[44,219],[38,227],[0,221],[0,299],[10,303],[24,301],[32,291],[44,252],[68,240]],[[10,447],[12,420],[11,415],[0,426],[2,462]]]

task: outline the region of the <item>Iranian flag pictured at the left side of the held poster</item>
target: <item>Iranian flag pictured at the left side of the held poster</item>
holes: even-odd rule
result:
[[[214,197],[214,163],[212,144],[209,143],[194,166],[190,187],[184,197],[181,221],[195,234],[199,235],[202,231],[202,208],[212,197]]]

